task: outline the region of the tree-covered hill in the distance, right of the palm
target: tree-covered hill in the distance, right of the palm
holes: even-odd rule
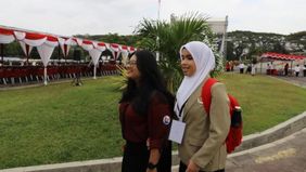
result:
[[[291,35],[272,32],[228,32],[228,59],[252,59],[265,52],[306,54],[306,31]]]

